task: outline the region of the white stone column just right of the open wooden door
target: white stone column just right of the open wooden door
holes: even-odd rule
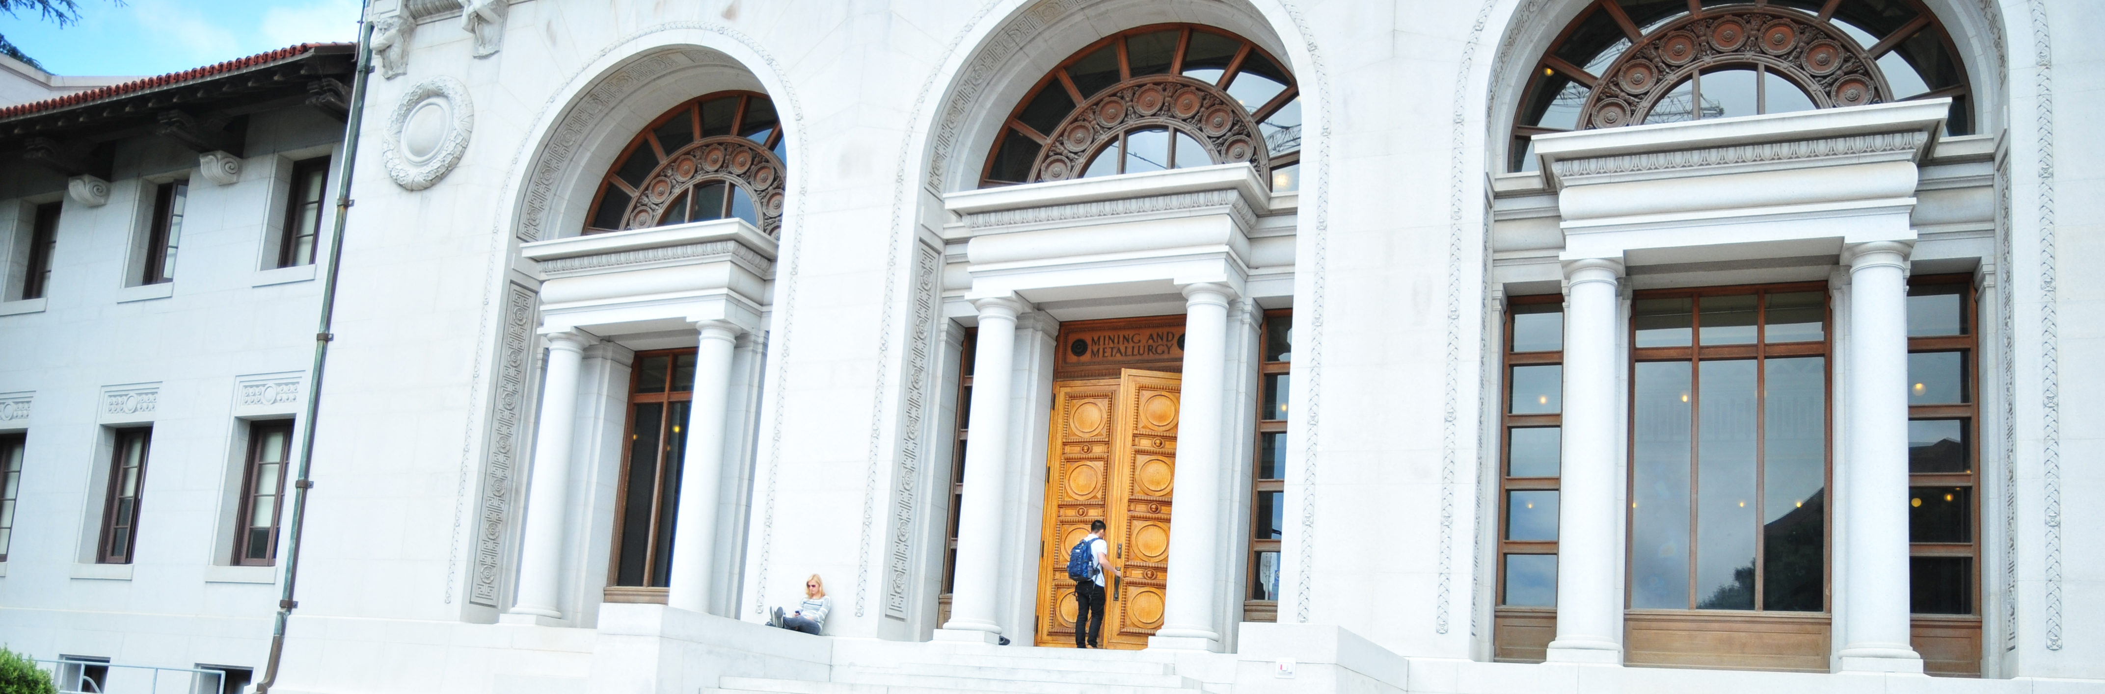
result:
[[[1177,408],[1177,505],[1170,507],[1162,629],[1147,648],[1217,650],[1215,585],[1221,570],[1221,456],[1227,301],[1219,284],[1185,286],[1185,362]]]

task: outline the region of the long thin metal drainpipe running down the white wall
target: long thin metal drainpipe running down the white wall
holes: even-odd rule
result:
[[[322,366],[328,364],[328,343],[337,339],[328,330],[337,313],[337,273],[343,269],[343,223],[352,217],[352,170],[358,164],[358,126],[366,116],[366,78],[373,74],[373,23],[366,21],[370,8],[373,0],[358,6],[358,74],[352,76],[352,114],[343,124],[343,168],[337,170],[337,225],[328,231],[328,269],[322,271],[322,320],[314,332],[314,366],[307,372],[307,419],[305,431],[299,437],[299,477],[293,482],[293,528],[284,543],[284,591],[278,597],[278,622],[269,635],[269,662],[263,665],[263,681],[257,683],[257,694],[265,694],[278,683],[278,660],[284,654],[284,622],[293,618],[293,608],[299,608],[299,601],[293,599],[299,578],[299,532],[307,517],[307,490],[314,488],[307,473],[314,469],[314,429],[322,410]]]

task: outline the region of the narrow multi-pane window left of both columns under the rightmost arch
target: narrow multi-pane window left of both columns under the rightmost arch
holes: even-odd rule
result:
[[[1505,307],[1495,658],[1541,662],[1558,606],[1558,488],[1564,467],[1564,297]]]

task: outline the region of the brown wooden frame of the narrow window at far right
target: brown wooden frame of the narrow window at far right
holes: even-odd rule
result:
[[[1966,421],[1966,461],[1968,471],[1964,473],[1916,473],[1909,471],[1907,486],[1964,486],[1972,496],[1972,509],[1968,509],[1968,543],[1916,543],[1909,538],[1907,555],[1913,557],[1966,557],[1970,559],[1972,576],[1968,578],[1968,604],[1970,614],[1909,614],[1909,631],[1922,639],[1926,635],[1949,635],[1949,633],[1970,633],[1974,644],[1974,669],[1930,669],[1930,675],[1947,677],[1981,677],[1979,656],[1981,656],[1981,631],[1983,631],[1983,610],[1981,610],[1981,313],[1979,313],[1979,288],[1974,286],[1972,273],[1949,273],[1949,275],[1913,275],[1907,280],[1909,288],[1918,286],[1962,286],[1960,290],[1960,315],[1964,320],[1962,334],[1939,334],[1939,336],[1909,336],[1907,351],[1960,351],[1964,353],[1962,364],[1966,368],[1966,402],[1964,404],[1930,404],[1930,406],[1907,406],[1907,419],[1960,419]],[[2008,463],[2004,463],[2008,465]],[[1918,648],[1920,652],[1920,648]]]

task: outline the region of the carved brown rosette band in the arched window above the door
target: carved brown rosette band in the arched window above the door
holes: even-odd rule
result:
[[[1212,84],[1181,76],[1132,78],[1074,109],[1038,151],[1031,181],[1080,179],[1090,158],[1120,132],[1164,126],[1198,139],[1212,164],[1250,162],[1271,181],[1271,158],[1257,122]]]

